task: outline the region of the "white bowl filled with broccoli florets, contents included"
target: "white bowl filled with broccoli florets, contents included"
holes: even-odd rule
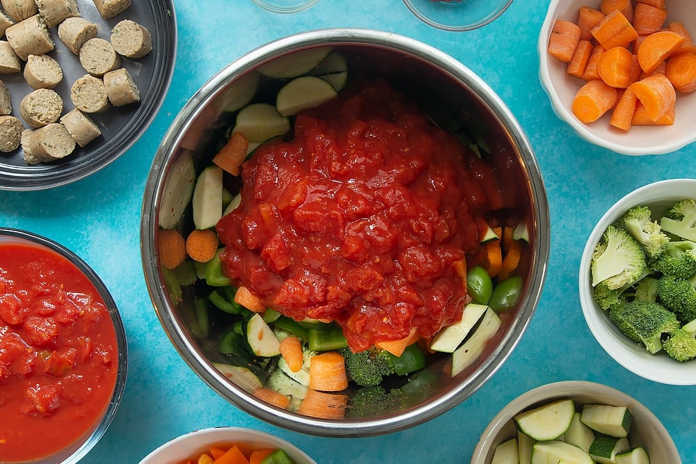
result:
[[[696,179],[642,186],[592,230],[580,305],[592,335],[629,371],[696,385]]]

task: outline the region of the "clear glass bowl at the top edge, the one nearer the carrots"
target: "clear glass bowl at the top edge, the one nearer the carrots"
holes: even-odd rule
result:
[[[444,31],[471,31],[493,22],[513,0],[404,0],[411,13]]]

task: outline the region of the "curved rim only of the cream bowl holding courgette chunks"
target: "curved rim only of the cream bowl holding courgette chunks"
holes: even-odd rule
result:
[[[677,445],[674,444],[672,436],[665,429],[660,419],[654,413],[644,406],[640,401],[631,397],[629,394],[617,390],[614,387],[604,385],[602,383],[596,383],[592,381],[557,381],[553,383],[546,383],[545,385],[540,385],[539,387],[532,388],[516,397],[507,405],[500,410],[500,412],[493,417],[491,422],[488,424],[486,429],[481,434],[480,440],[477,442],[474,452],[471,456],[471,464],[484,464],[484,458],[487,451],[493,445],[492,440],[494,440],[501,429],[512,419],[512,417],[519,413],[521,410],[528,408],[535,403],[544,401],[544,399],[554,399],[559,397],[578,397],[582,395],[596,395],[602,394],[603,396],[610,396],[615,399],[613,403],[615,406],[628,406],[628,409],[632,413],[640,411],[642,417],[647,417],[649,422],[651,422],[651,427],[653,431],[658,431],[661,435],[661,441],[666,449],[670,449],[672,454],[677,457],[677,461],[672,464],[681,464],[681,457],[679,456],[679,451],[677,450]],[[674,457],[672,456],[672,457]]]

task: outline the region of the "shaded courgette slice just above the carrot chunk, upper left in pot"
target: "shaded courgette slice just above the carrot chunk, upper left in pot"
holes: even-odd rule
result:
[[[232,134],[239,132],[250,143],[282,136],[288,131],[290,131],[290,120],[279,115],[276,108],[268,103],[244,106],[237,113],[235,127],[232,128]]]

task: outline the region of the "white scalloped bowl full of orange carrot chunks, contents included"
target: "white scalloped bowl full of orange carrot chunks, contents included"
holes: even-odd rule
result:
[[[539,77],[585,140],[628,155],[696,141],[696,15],[688,0],[553,0]]]

